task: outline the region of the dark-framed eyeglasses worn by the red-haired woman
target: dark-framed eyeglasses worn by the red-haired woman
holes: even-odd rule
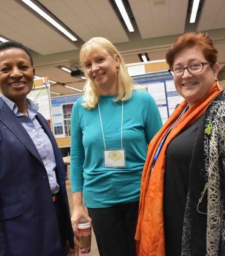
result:
[[[176,66],[175,68],[168,69],[168,72],[172,77],[176,76],[182,76],[184,74],[184,70],[187,69],[190,74],[196,74],[200,73],[204,65],[210,65],[209,62],[198,62],[198,63],[192,63],[188,66]]]

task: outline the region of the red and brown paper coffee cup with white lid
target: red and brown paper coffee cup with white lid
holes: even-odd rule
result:
[[[79,254],[88,254],[91,252],[91,224],[89,222],[78,223]]]

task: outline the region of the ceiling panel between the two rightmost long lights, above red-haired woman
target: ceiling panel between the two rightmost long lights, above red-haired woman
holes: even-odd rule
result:
[[[142,38],[184,32],[188,0],[129,0],[129,3]]]

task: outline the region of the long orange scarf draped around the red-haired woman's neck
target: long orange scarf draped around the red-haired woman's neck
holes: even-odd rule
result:
[[[161,143],[162,138],[164,138],[167,131],[173,123],[175,123],[182,110],[184,110],[187,101],[181,102],[175,112],[168,118],[167,122],[151,141],[148,147],[147,159],[141,181],[139,217],[137,220],[135,236],[135,239],[137,240],[137,255],[165,256],[163,197],[167,146],[173,138],[181,133],[182,130],[189,127],[202,116],[204,112],[206,112],[206,108],[210,102],[213,101],[221,91],[223,91],[223,88],[218,88],[215,82],[207,94],[181,116],[178,123],[176,123],[175,127],[173,127],[168,134],[154,165],[153,171],[151,171],[151,166],[156,150]]]

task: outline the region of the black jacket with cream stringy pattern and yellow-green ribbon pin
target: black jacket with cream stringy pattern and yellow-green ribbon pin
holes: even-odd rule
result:
[[[189,169],[182,256],[225,255],[225,91],[199,124]]]

